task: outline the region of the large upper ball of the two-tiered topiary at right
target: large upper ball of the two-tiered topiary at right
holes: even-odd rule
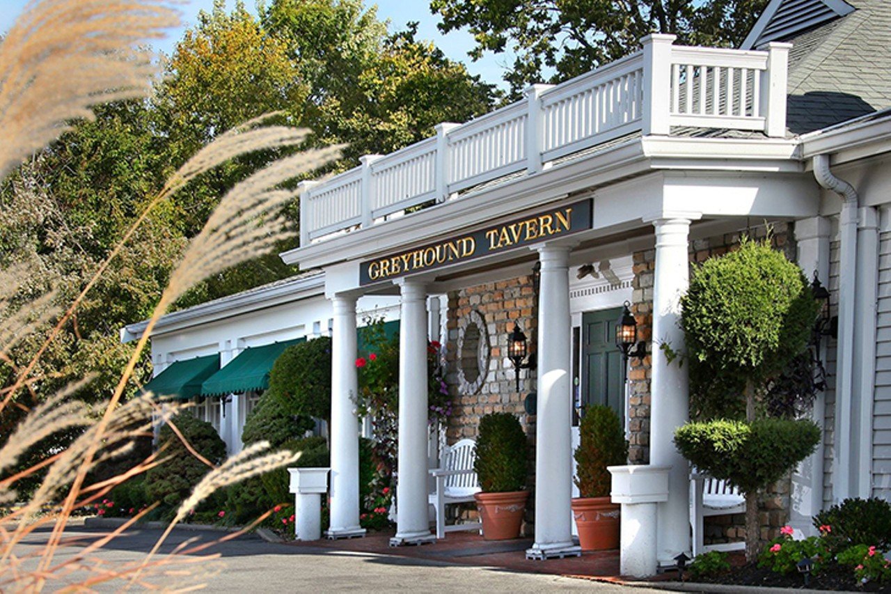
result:
[[[746,237],[693,270],[681,305],[691,400],[707,416],[740,416],[747,405],[749,420],[758,386],[805,350],[818,314],[801,269]]]

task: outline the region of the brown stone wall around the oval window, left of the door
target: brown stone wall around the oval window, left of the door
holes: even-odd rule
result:
[[[462,318],[476,310],[486,322],[489,347],[489,368],[479,391],[462,394],[458,379],[458,329]],[[535,372],[520,371],[520,390],[517,391],[515,370],[507,358],[507,338],[519,323],[527,336],[528,352],[535,352],[538,326],[533,277],[519,276],[510,280],[476,285],[448,294],[446,322],[446,383],[453,398],[453,415],[446,427],[446,441],[454,443],[463,438],[477,439],[479,419],[491,412],[510,412],[519,417],[529,441],[527,488],[535,488],[535,416],[526,415],[523,399],[535,392]],[[529,533],[535,519],[534,498],[526,507]],[[471,512],[472,515],[472,512]]]

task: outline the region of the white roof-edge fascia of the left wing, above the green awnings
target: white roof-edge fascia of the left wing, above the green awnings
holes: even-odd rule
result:
[[[291,282],[274,285],[265,289],[236,293],[216,301],[200,303],[188,309],[174,311],[159,318],[151,331],[152,335],[166,334],[208,324],[220,319],[231,318],[257,309],[271,308],[282,303],[315,297],[324,293],[324,274],[294,279]],[[145,332],[148,320],[124,326],[120,330],[120,342],[138,340]]]

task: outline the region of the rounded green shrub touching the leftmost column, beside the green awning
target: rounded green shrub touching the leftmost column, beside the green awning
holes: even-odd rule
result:
[[[331,338],[288,347],[269,373],[269,392],[290,415],[331,417]]]

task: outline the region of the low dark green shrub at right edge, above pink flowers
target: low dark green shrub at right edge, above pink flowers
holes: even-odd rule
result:
[[[884,499],[845,499],[813,516],[813,525],[833,553],[856,545],[891,549],[891,503]]]

